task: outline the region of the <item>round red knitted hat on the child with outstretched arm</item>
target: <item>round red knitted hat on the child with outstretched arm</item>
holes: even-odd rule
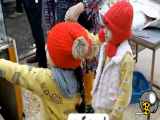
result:
[[[76,68],[80,59],[72,56],[72,45],[77,37],[83,36],[91,46],[91,40],[85,29],[78,23],[62,22],[55,25],[48,33],[47,47],[52,62],[60,68]]]

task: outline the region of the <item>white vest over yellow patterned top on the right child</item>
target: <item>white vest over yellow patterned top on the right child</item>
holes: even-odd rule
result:
[[[134,61],[126,41],[120,45],[116,56],[110,60],[104,56],[104,47],[105,44],[100,52],[92,91],[92,105],[96,111],[109,110],[116,118],[114,120],[121,120],[131,99]]]

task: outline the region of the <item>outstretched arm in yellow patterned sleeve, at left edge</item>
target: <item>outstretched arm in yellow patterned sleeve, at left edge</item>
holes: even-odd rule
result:
[[[40,85],[47,75],[45,69],[0,59],[0,77],[40,94],[40,91],[42,91]]]

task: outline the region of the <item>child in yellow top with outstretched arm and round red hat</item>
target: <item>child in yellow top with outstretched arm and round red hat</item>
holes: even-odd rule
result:
[[[48,33],[47,55],[51,69],[0,59],[0,77],[42,98],[45,111],[42,120],[66,120],[79,104],[81,61],[92,57],[94,47],[85,28],[78,23],[62,22]]]

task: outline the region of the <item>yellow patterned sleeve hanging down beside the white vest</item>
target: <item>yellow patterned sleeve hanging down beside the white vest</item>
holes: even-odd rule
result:
[[[127,53],[120,65],[120,91],[118,99],[111,112],[111,116],[114,118],[114,120],[122,120],[123,112],[130,103],[132,95],[133,70],[133,57],[131,54]]]

